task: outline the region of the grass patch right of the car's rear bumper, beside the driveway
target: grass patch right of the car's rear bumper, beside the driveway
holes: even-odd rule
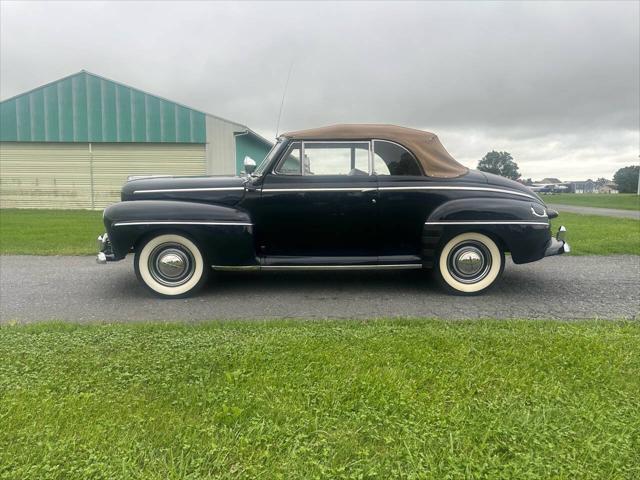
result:
[[[638,220],[560,212],[551,224],[567,227],[571,255],[640,255]]]

